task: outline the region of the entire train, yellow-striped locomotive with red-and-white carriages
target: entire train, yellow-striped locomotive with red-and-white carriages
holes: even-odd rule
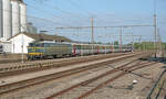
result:
[[[83,43],[58,43],[58,42],[34,42],[28,46],[28,59],[77,56],[92,54],[106,54],[117,52],[131,52],[131,47],[118,48],[118,46],[106,44],[83,44]]]

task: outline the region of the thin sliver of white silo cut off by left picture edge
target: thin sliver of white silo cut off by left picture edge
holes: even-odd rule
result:
[[[0,0],[0,37],[3,36],[3,10],[2,10],[2,0]]]

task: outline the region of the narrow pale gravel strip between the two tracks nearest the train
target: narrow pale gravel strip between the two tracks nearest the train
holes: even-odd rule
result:
[[[125,56],[131,56],[131,55],[125,55]],[[30,78],[35,78],[35,77],[39,77],[39,76],[60,73],[60,72],[68,70],[68,69],[73,69],[73,68],[76,68],[76,67],[83,67],[83,66],[87,66],[87,65],[94,65],[94,64],[97,64],[97,63],[113,61],[113,59],[125,57],[125,56],[118,56],[118,57],[115,57],[115,58],[106,58],[106,59],[101,59],[101,61],[96,61],[96,62],[89,62],[89,63],[83,63],[83,64],[80,64],[80,65],[72,65],[72,66],[68,66],[68,67],[46,69],[46,70],[37,72],[37,73],[30,73],[30,74],[13,76],[13,77],[10,76],[10,77],[6,77],[6,78],[0,78],[0,81],[1,81],[0,86],[17,82],[17,81],[20,81],[20,80],[27,80],[27,79],[30,79]]]

